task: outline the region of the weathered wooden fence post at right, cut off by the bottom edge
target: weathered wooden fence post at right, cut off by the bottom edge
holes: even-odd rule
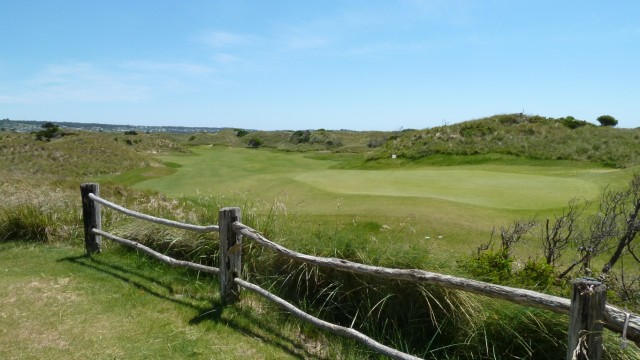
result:
[[[596,279],[581,278],[573,282],[567,360],[602,359],[606,296],[606,286]]]

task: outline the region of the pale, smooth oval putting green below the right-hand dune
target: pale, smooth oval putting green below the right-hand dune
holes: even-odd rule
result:
[[[564,206],[576,196],[597,196],[592,182],[532,174],[432,168],[407,171],[319,170],[295,176],[342,194],[426,197],[503,209]]]

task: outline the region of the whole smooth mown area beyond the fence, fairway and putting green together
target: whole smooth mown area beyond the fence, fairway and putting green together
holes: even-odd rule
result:
[[[198,147],[195,155],[162,156],[181,165],[135,187],[170,196],[223,198],[225,206],[266,202],[301,215],[311,227],[372,221],[414,230],[408,246],[450,257],[468,254],[492,229],[516,218],[550,216],[571,198],[596,199],[632,169],[499,156],[407,163],[364,162],[361,154],[284,153],[267,149]],[[125,174],[126,175],[126,174]],[[284,213],[285,211],[283,211]]]

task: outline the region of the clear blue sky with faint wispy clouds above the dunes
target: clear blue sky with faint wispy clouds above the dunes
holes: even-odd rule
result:
[[[640,126],[640,2],[0,0],[0,118],[429,128],[501,113]]]

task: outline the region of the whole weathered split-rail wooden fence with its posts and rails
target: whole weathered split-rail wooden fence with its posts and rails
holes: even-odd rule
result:
[[[531,290],[495,285],[424,270],[392,269],[355,263],[338,258],[311,256],[278,245],[262,236],[257,230],[242,224],[240,208],[223,208],[218,213],[218,225],[199,226],[145,215],[116,205],[99,196],[98,184],[82,184],[80,189],[83,205],[85,248],[89,256],[101,251],[101,238],[104,237],[133,247],[171,266],[186,267],[197,271],[218,274],[220,277],[221,297],[225,304],[231,304],[237,301],[240,296],[240,288],[243,288],[276,303],[278,306],[304,321],[331,333],[355,339],[370,349],[391,358],[418,359],[413,355],[380,344],[352,328],[332,324],[309,315],[267,290],[242,280],[240,277],[242,273],[242,240],[244,238],[253,240],[257,244],[271,249],[282,256],[316,266],[392,280],[434,284],[449,289],[506,300],[524,306],[567,314],[569,315],[567,359],[601,359],[603,327],[621,334],[623,344],[626,344],[627,339],[629,339],[637,345],[640,345],[640,316],[606,304],[606,287],[596,279],[581,278],[575,280],[573,282],[571,299],[565,299]],[[219,232],[220,268],[176,260],[138,242],[123,239],[102,231],[100,205],[156,224],[196,232]]]

